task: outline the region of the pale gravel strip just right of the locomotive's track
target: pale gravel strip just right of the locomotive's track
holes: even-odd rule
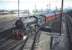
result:
[[[40,41],[36,50],[50,50],[50,36],[47,35],[48,32],[41,32]]]

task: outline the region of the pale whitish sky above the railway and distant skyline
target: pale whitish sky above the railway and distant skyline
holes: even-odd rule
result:
[[[20,10],[55,9],[61,8],[61,0],[19,0]],[[64,0],[64,8],[72,8],[72,0]],[[0,9],[18,9],[18,0],[0,0]]]

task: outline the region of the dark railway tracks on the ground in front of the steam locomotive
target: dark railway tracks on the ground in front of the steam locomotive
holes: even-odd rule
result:
[[[0,50],[33,50],[38,35],[38,32],[35,32],[25,40],[16,40],[11,37],[10,30],[2,32],[0,33]]]

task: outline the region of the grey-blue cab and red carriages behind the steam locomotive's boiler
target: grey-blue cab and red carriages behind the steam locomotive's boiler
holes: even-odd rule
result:
[[[37,22],[39,26],[48,24],[48,22],[54,21],[59,17],[61,14],[60,13],[49,13],[45,15],[36,15],[37,17]]]

